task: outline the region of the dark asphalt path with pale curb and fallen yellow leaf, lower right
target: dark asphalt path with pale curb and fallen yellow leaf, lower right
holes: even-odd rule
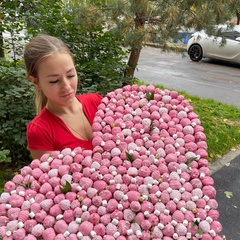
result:
[[[217,191],[219,222],[226,240],[240,239],[240,149],[229,152],[209,166]]]

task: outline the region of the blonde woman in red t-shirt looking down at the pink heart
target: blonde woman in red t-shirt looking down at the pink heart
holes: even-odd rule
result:
[[[37,116],[27,126],[34,159],[64,148],[92,149],[92,123],[102,97],[76,96],[78,77],[73,56],[58,38],[38,35],[25,47],[28,79],[36,89]]]

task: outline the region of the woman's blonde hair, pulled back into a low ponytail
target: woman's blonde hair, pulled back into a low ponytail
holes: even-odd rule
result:
[[[38,81],[38,65],[40,61],[56,52],[72,53],[66,44],[57,37],[40,34],[30,40],[24,49],[24,62],[28,79],[32,76]],[[40,89],[35,92],[35,106],[38,114],[47,104],[47,97]]]

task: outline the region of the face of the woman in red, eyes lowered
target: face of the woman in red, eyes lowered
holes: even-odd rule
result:
[[[71,103],[77,84],[74,62],[67,52],[54,53],[39,63],[38,79],[34,85],[45,94],[48,104],[66,106]]]

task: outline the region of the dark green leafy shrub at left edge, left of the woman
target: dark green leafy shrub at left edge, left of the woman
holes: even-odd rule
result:
[[[21,64],[0,61],[0,145],[14,161],[30,160],[26,125],[35,115],[34,91],[25,75]]]

